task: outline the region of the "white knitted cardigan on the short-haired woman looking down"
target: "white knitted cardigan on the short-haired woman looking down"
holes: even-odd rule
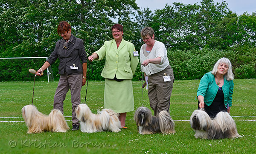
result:
[[[157,57],[161,58],[160,64],[149,63],[147,66],[142,67],[142,71],[147,76],[151,76],[151,74],[158,73],[164,70],[167,66],[169,66],[169,60],[167,58],[167,50],[162,42],[159,42],[156,40],[148,56],[145,56],[143,51],[146,51],[146,44],[142,45],[140,48],[140,64],[142,64],[146,59],[154,59]]]

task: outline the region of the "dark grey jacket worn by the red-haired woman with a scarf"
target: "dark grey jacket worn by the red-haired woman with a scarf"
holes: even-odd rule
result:
[[[76,38],[74,36],[74,39],[69,44],[69,49],[65,53],[63,46],[61,44],[61,40],[56,42],[55,49],[52,52],[52,54],[47,59],[47,62],[49,64],[52,64],[56,61],[56,59],[59,58],[60,64],[58,66],[59,74],[64,75],[64,69],[66,70],[67,74],[73,74],[78,72],[83,72],[82,63],[87,62],[87,56],[84,49],[84,42],[82,39]],[[81,62],[80,62],[81,60]],[[70,66],[78,67],[78,70],[76,69],[70,69]]]

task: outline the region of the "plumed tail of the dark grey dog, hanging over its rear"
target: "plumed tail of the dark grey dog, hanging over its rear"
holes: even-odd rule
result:
[[[163,134],[175,133],[175,123],[169,113],[165,110],[159,113],[159,125]]]

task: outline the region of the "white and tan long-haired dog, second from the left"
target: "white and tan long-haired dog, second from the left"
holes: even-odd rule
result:
[[[121,131],[118,114],[112,109],[102,109],[95,115],[86,104],[79,104],[75,112],[77,119],[80,120],[81,132]]]

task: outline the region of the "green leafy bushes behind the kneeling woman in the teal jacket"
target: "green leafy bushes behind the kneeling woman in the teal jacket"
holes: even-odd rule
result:
[[[176,79],[201,79],[222,57],[230,59],[235,78],[256,78],[255,51],[250,49],[239,54],[236,49],[169,50],[168,58]]]

